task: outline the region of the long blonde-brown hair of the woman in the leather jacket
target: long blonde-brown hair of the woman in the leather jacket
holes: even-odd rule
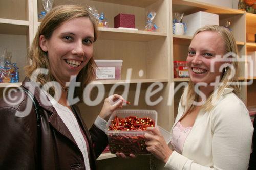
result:
[[[42,20],[30,47],[28,61],[32,61],[32,63],[25,67],[25,74],[27,77],[31,78],[33,72],[38,68],[50,70],[48,54],[47,52],[42,51],[39,46],[40,35],[44,35],[46,39],[50,39],[53,31],[63,22],[78,17],[88,17],[91,20],[94,28],[94,42],[97,40],[97,22],[86,7],[79,5],[61,5],[53,8]],[[95,79],[95,67],[96,64],[92,57],[77,75],[76,81],[81,82],[81,86],[75,89],[75,95],[77,95],[80,100],[82,100],[82,90],[84,87]],[[37,81],[39,81],[41,85],[44,85],[47,82],[56,81],[56,79],[51,72],[49,72],[47,75],[39,74],[37,76]],[[50,88],[49,93],[53,96],[55,93],[54,88]]]

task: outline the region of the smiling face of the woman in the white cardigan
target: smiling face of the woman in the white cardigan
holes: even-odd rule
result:
[[[187,65],[189,77],[193,83],[215,82],[216,76],[222,75],[219,71],[223,62],[218,56],[225,55],[225,43],[217,32],[203,31],[198,33],[188,48]],[[214,62],[214,72],[211,72],[211,62]]]

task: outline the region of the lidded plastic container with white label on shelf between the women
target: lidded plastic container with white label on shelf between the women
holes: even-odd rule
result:
[[[98,68],[96,69],[96,79],[121,79],[123,60],[94,60]]]

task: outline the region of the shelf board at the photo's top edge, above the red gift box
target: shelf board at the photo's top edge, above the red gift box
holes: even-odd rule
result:
[[[92,0],[92,1],[100,1],[100,2],[106,2],[106,3],[114,3],[114,4],[120,4],[120,5],[130,5],[130,6],[136,6],[136,7],[147,7],[158,0]]]

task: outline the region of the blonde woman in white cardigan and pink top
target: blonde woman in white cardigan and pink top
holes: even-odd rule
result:
[[[237,45],[231,32],[209,25],[188,48],[190,82],[166,144],[157,128],[145,134],[147,150],[167,169],[248,168],[253,127],[238,98]]]

